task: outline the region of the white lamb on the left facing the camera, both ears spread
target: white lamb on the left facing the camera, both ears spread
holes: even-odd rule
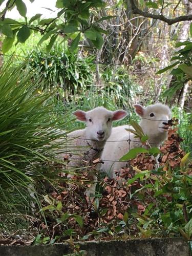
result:
[[[86,128],[67,135],[67,148],[72,153],[69,167],[72,167],[72,170],[74,167],[84,166],[85,161],[91,164],[93,160],[101,157],[104,144],[111,135],[112,122],[123,119],[127,112],[109,111],[98,107],[88,112],[77,110],[73,114],[78,121],[86,122]],[[96,176],[92,172],[89,175],[92,176],[94,184],[86,191],[87,196],[94,195],[96,187]]]

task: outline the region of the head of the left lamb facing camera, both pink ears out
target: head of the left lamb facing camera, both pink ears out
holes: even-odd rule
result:
[[[91,140],[105,141],[112,131],[112,122],[123,119],[127,112],[124,110],[109,111],[98,107],[91,111],[75,111],[77,119],[86,122],[86,137]]]

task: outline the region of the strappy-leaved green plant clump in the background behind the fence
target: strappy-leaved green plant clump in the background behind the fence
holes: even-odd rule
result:
[[[81,58],[57,46],[50,53],[36,48],[28,53],[27,59],[27,68],[34,79],[41,76],[44,88],[60,88],[61,95],[86,90],[92,84],[92,57]]]

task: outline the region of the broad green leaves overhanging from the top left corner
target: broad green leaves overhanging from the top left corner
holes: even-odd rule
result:
[[[49,39],[47,51],[52,49],[54,41],[58,35],[65,37],[64,40],[73,39],[71,44],[71,52],[74,52],[77,47],[81,35],[85,34],[89,38],[92,46],[97,49],[101,49],[103,45],[102,34],[106,33],[100,26],[99,23],[102,20],[110,19],[112,16],[105,16],[101,19],[94,20],[93,10],[98,10],[105,6],[104,1],[86,0],[84,2],[80,0],[76,1],[63,1],[57,0],[56,7],[60,9],[57,13],[56,18],[42,18],[41,14],[35,14],[29,21],[26,17],[27,8],[22,0],[16,0],[14,3],[7,1],[7,9],[11,9],[16,6],[19,14],[25,17],[25,22],[17,22],[14,19],[7,19],[2,15],[0,23],[2,33],[7,37],[4,39],[3,53],[6,53],[11,48],[12,44],[9,44],[8,38],[17,37],[19,42],[24,43],[30,37],[30,31],[39,31],[42,35],[39,44]],[[6,15],[6,10],[4,10]],[[63,22],[65,20],[65,22]],[[94,21],[93,21],[94,20]],[[34,23],[35,22],[35,23]],[[78,32],[78,34],[75,34]],[[13,37],[14,35],[14,37]],[[95,35],[95,36],[93,36]],[[75,39],[74,39],[75,36]],[[9,44],[9,47],[7,45]]]

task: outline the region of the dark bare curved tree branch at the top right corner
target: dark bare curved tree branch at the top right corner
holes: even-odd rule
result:
[[[192,15],[184,15],[184,16],[179,16],[177,18],[169,19],[169,18],[166,18],[162,14],[156,15],[156,14],[151,14],[151,13],[144,12],[144,11],[140,10],[135,5],[135,0],[130,0],[130,3],[132,5],[132,11],[134,14],[139,14],[146,18],[159,19],[159,20],[162,20],[163,22],[166,22],[168,25],[172,25],[172,24],[178,23],[178,22],[184,22],[185,20],[192,20]]]

